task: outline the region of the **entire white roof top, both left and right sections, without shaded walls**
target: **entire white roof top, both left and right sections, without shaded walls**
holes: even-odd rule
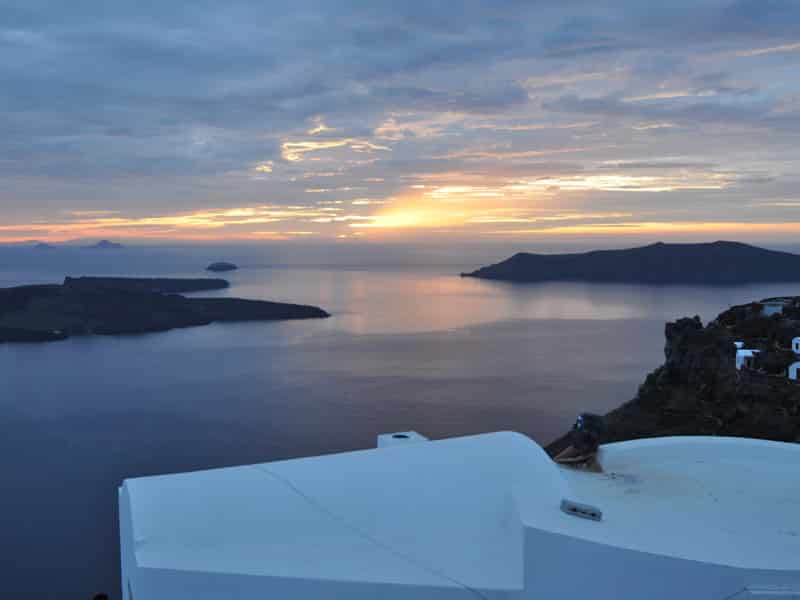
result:
[[[662,438],[605,446],[601,462],[603,474],[558,467],[502,432],[124,486],[139,567],[519,590],[524,524],[800,570],[800,446]],[[562,498],[597,506],[603,521],[562,513]]]

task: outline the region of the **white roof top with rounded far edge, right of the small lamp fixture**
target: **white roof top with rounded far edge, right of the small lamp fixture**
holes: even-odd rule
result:
[[[800,444],[669,437],[608,444],[605,473],[563,473],[603,511],[601,527],[558,532],[739,568],[800,572]],[[531,523],[552,528],[535,515]]]

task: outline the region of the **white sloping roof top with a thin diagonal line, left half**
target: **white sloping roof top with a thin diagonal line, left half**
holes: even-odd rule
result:
[[[139,566],[490,589],[522,587],[515,482],[563,478],[514,433],[129,479]]]

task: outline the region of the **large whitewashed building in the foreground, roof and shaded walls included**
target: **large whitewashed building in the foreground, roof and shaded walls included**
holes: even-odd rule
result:
[[[800,596],[800,445],[623,442],[590,473],[517,433],[403,435],[126,480],[124,600]]]

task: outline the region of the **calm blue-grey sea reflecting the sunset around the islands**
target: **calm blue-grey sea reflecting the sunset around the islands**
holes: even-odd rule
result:
[[[17,256],[0,285],[66,274],[201,274],[210,250]],[[475,265],[368,270],[234,256],[230,290],[321,321],[0,346],[0,597],[118,597],[125,477],[341,452],[377,434],[514,429],[546,443],[661,363],[664,321],[787,286],[512,285]]]

